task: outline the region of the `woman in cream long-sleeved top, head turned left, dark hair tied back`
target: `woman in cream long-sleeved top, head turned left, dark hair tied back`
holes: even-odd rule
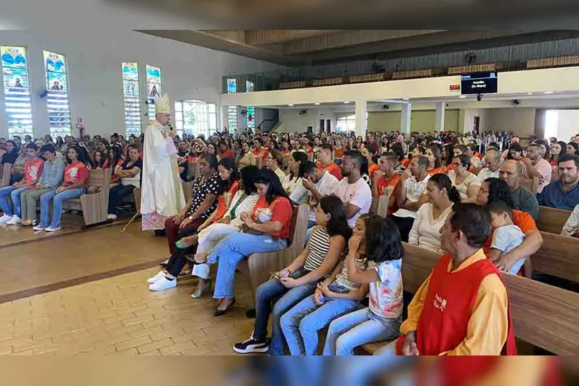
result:
[[[408,243],[442,252],[440,228],[451,213],[452,205],[460,202],[460,194],[456,187],[452,186],[447,175],[435,174],[426,185],[426,196],[429,202],[423,204],[416,212],[416,219],[408,235]]]

